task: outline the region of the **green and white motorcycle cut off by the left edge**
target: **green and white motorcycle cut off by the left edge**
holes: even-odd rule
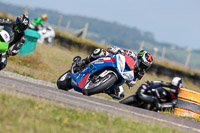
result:
[[[0,60],[2,60],[3,54],[8,51],[9,43],[14,39],[14,32],[12,28],[8,26],[2,26],[0,29]],[[0,64],[1,65],[1,64]],[[0,66],[1,68],[1,66]]]

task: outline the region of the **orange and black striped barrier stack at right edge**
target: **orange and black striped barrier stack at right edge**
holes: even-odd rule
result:
[[[200,118],[200,93],[181,88],[174,114]]]

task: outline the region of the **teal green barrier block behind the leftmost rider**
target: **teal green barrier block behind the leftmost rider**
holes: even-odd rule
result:
[[[18,55],[27,55],[32,53],[36,48],[37,39],[40,38],[40,34],[37,31],[31,29],[25,30],[25,36],[26,42],[20,48]]]

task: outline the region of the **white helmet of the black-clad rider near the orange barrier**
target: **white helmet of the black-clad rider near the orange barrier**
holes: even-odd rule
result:
[[[174,77],[171,81],[171,92],[173,93],[178,93],[180,88],[183,87],[183,82],[182,82],[182,79],[180,77]]]

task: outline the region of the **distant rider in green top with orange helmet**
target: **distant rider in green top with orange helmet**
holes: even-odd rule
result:
[[[40,17],[35,20],[30,21],[29,28],[33,30],[39,30],[43,27],[44,21],[48,18],[47,14],[42,14]]]

